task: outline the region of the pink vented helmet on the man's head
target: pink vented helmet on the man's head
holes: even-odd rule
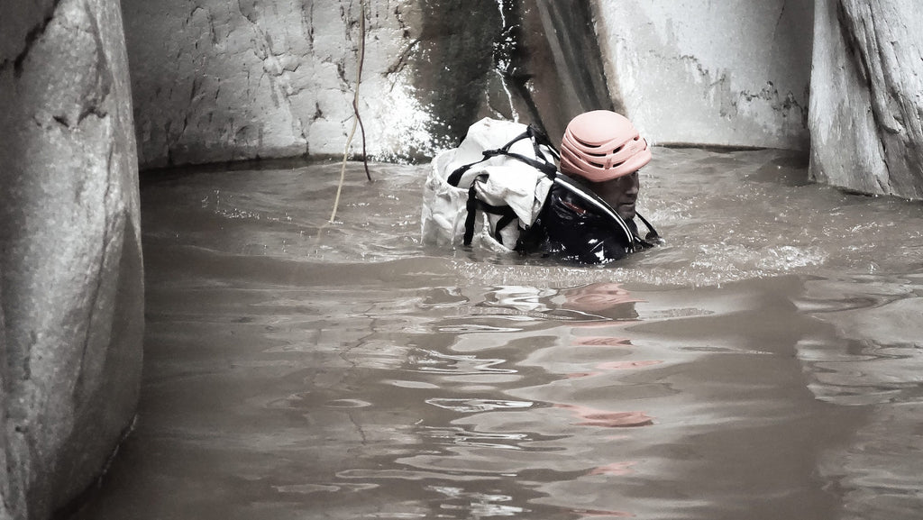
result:
[[[570,120],[561,139],[561,171],[602,182],[630,175],[651,161],[651,149],[624,116],[593,110]]]

